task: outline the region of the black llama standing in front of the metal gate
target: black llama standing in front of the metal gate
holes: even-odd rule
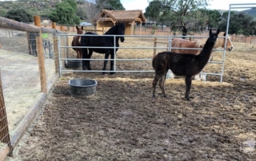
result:
[[[212,33],[210,29],[209,38],[206,41],[201,53],[199,55],[194,54],[182,54],[172,52],[158,53],[153,58],[152,65],[155,70],[155,77],[153,81],[153,96],[155,96],[155,88],[159,81],[159,87],[162,90],[163,96],[166,97],[164,89],[164,83],[166,81],[166,73],[170,69],[176,76],[185,76],[186,81],[186,100],[190,100],[190,88],[192,77],[202,71],[210,58],[210,53],[214,48],[214,44],[217,40],[219,29],[216,33]]]

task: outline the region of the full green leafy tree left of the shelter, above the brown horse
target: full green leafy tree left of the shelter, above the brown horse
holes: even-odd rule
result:
[[[77,3],[73,0],[59,2],[55,9],[50,13],[49,17],[52,22],[65,25],[79,24],[80,18],[76,15]]]

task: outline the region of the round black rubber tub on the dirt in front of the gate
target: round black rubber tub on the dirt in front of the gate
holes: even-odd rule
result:
[[[73,79],[69,81],[71,96],[90,97],[96,92],[97,81],[90,79]]]

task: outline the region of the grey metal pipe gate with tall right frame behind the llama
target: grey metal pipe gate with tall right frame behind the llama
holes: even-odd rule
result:
[[[220,64],[222,65],[222,68],[221,68],[221,71],[219,73],[200,73],[202,75],[205,75],[207,77],[207,75],[216,75],[216,76],[220,76],[220,83],[222,83],[223,81],[223,71],[224,71],[224,67],[225,67],[225,59],[226,59],[226,42],[227,42],[227,37],[229,36],[228,35],[228,29],[229,29],[229,25],[230,25],[230,10],[231,9],[244,9],[244,8],[250,8],[251,6],[256,6],[256,3],[248,3],[248,4],[230,4],[230,9],[229,9],[229,14],[228,14],[228,19],[227,19],[227,25],[226,25],[226,37],[219,37],[219,38],[225,38],[225,46],[224,46],[224,49],[214,49],[214,51],[222,51],[222,61],[209,61],[209,63],[214,63],[214,64]],[[58,40],[59,40],[59,44],[58,44],[58,53],[59,53],[59,64],[60,64],[60,76],[62,76],[62,73],[63,72],[84,72],[84,73],[88,73],[88,72],[100,72],[102,73],[103,71],[102,70],[67,70],[64,68],[63,66],[63,61],[68,61],[68,60],[78,60],[78,59],[74,59],[74,58],[69,58],[67,57],[66,53],[65,54],[62,54],[62,50],[63,49],[67,49],[67,48],[72,48],[72,46],[70,45],[67,45],[66,42],[62,42],[62,40],[66,40],[66,39],[62,39],[62,37],[68,37],[68,36],[78,36],[78,34],[58,34]],[[83,36],[91,36],[91,35],[83,35]],[[95,36],[95,35],[94,35]],[[102,35],[96,35],[96,36],[102,36]],[[106,35],[104,35],[106,36]],[[118,36],[118,35],[107,35],[107,36],[110,36],[110,37],[114,37],[114,40],[115,40],[115,37]],[[180,36],[156,36],[156,35],[126,35],[125,37],[162,37],[162,38],[167,38],[168,39],[168,45],[169,45],[169,48],[168,48],[168,51],[170,51],[171,49],[171,39],[173,37],[180,37]],[[184,36],[182,36],[184,37]],[[189,37],[199,37],[199,36],[189,36]],[[83,47],[76,47],[76,48],[83,48]],[[92,46],[86,46],[86,48],[100,48],[100,47],[92,47]],[[108,48],[114,48],[116,49],[117,47],[114,46],[114,47],[108,47]],[[118,47],[119,49],[145,49],[145,47],[138,47],[138,46],[130,46],[130,47]],[[154,46],[154,47],[146,47],[146,49],[166,49],[165,47],[157,47],[157,46]],[[186,48],[183,48],[183,49],[186,49]],[[187,48],[187,49],[190,49],[190,48]],[[114,54],[115,55],[115,54]],[[152,57],[153,58],[153,57]],[[116,69],[116,61],[152,61],[152,58],[147,58],[147,59],[117,59],[115,58],[114,56],[114,71],[109,71],[109,70],[106,70],[105,72],[115,72],[115,73],[123,73],[123,72],[129,72],[129,73],[138,73],[138,72],[142,72],[142,73],[146,73],[146,72],[154,72],[153,69],[150,69],[150,70],[117,70]],[[86,59],[82,59],[82,60],[86,60]],[[90,60],[102,60],[104,61],[105,59],[90,59]],[[111,59],[109,59],[110,61]],[[166,78],[170,78],[170,73],[167,73],[166,75]],[[206,81],[206,77],[205,77],[205,80]]]

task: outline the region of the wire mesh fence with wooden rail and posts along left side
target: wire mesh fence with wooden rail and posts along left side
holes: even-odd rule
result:
[[[58,30],[35,28],[36,26],[24,25],[6,18],[0,20],[2,155],[1,147],[7,147],[3,149],[9,149],[6,151],[11,153],[18,137],[36,114],[35,111],[38,109],[35,110],[34,107],[46,100],[50,88],[58,77],[59,65]],[[30,27],[38,30],[34,31]],[[62,41],[65,42],[65,37]]]

